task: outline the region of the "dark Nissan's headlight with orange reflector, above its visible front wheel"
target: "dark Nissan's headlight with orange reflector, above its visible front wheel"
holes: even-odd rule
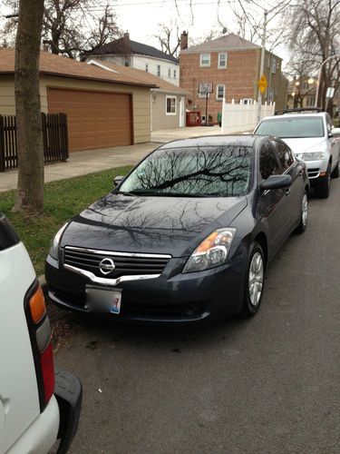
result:
[[[212,232],[189,256],[183,272],[203,271],[227,262],[236,229],[228,227]]]

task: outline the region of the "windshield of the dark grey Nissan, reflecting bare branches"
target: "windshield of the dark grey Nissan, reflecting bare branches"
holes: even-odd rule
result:
[[[232,197],[248,193],[253,149],[202,146],[157,150],[121,184],[119,193]]]

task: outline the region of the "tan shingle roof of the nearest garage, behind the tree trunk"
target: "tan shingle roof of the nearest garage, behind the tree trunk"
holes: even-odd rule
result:
[[[0,48],[0,74],[14,73],[15,49]],[[85,64],[62,55],[50,54],[48,52],[40,53],[40,74],[111,82],[115,84],[139,85],[149,88],[158,87],[157,84],[139,80],[129,74],[107,71],[97,66]]]

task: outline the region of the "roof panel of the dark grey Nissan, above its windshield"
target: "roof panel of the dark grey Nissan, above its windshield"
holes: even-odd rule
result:
[[[166,150],[169,148],[181,148],[181,147],[198,147],[198,146],[251,146],[262,141],[264,137],[272,136],[259,136],[255,134],[235,134],[235,135],[204,135],[199,137],[189,137],[188,139],[178,139],[169,143],[160,145],[158,150]]]

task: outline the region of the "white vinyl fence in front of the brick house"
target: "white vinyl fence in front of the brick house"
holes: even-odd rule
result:
[[[234,101],[234,100],[233,100]],[[257,125],[258,104],[222,104],[222,131],[223,134],[252,132]],[[261,118],[273,115],[275,103],[261,105]]]

